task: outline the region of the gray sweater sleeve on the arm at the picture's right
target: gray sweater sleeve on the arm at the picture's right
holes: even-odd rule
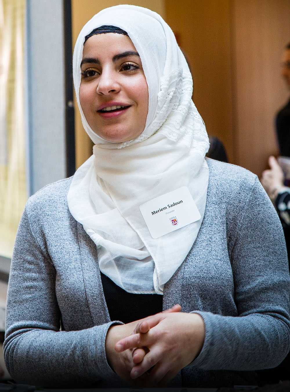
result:
[[[234,300],[238,315],[197,311],[205,341],[190,366],[206,370],[276,367],[290,348],[290,279],[283,230],[258,179],[231,236]]]

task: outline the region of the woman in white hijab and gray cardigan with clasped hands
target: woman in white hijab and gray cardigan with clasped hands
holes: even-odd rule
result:
[[[205,161],[174,34],[148,9],[105,9],[73,67],[94,154],[23,213],[9,372],[58,387],[256,383],[289,348],[283,232],[256,176]]]

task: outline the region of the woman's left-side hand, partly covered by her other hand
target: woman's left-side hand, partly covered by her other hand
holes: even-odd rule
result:
[[[174,307],[165,310],[162,313],[158,313],[150,317],[160,316],[162,314],[169,314],[171,312],[174,313],[180,312],[180,310],[181,310],[180,305],[175,305]],[[130,376],[131,370],[136,364],[142,362],[146,353],[148,353],[149,351],[148,348],[146,347],[146,345],[144,347],[134,346],[117,352],[115,350],[115,345],[120,339],[126,338],[131,334],[133,334],[134,330],[138,328],[138,326],[142,324],[142,322],[146,319],[147,318],[133,321],[132,323],[128,323],[124,325],[112,325],[112,327],[110,327],[107,332],[106,341],[105,341],[106,357],[110,367],[124,381],[136,386],[141,386],[141,384],[145,382],[148,375],[144,374],[139,379],[133,380]]]

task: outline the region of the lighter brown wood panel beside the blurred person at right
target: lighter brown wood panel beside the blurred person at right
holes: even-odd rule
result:
[[[235,162],[260,175],[278,154],[274,117],[289,96],[280,59],[290,41],[290,0],[232,5]]]

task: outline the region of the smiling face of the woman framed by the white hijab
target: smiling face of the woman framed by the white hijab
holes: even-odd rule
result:
[[[109,142],[126,142],[143,132],[148,86],[141,60],[124,34],[88,38],[81,61],[79,101],[92,130]]]

